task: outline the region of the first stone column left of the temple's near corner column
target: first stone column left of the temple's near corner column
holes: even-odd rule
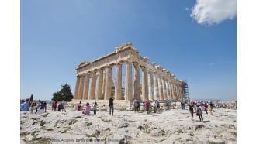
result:
[[[115,86],[116,100],[122,99],[122,65],[123,65],[123,62],[119,62],[116,65],[116,86]]]

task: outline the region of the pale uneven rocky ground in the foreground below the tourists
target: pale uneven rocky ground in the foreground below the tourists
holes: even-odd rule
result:
[[[74,108],[67,112],[47,110],[31,115],[20,112],[21,143],[237,143],[237,111],[214,108],[203,112],[204,122],[189,110],[171,109],[151,113],[97,111],[83,115]],[[91,111],[91,113],[93,113]]]

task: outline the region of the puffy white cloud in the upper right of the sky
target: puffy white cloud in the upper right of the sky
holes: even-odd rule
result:
[[[237,0],[196,0],[190,16],[199,24],[220,23],[237,15]]]

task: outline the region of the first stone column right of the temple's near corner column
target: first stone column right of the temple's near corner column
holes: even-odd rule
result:
[[[134,95],[133,98],[140,100],[140,67],[139,63],[133,63],[134,66]]]

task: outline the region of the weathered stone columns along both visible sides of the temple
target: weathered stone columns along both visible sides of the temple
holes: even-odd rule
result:
[[[147,70],[131,61],[116,64],[115,98],[122,100],[122,65],[126,63],[125,100],[181,100],[184,97],[184,88],[175,82],[175,79],[161,77],[156,72]],[[134,80],[132,81],[132,65]],[[112,67],[102,67],[87,74],[77,76],[74,100],[108,100],[112,93]],[[140,68],[142,70],[142,84],[140,97]],[[106,74],[103,71],[106,70]],[[98,77],[97,74],[98,73]],[[91,82],[90,82],[91,80]],[[96,83],[96,81],[98,81]],[[90,84],[90,86],[89,86]],[[96,86],[97,84],[97,86]],[[133,89],[134,87],[134,89]],[[95,90],[96,88],[96,90]]]

